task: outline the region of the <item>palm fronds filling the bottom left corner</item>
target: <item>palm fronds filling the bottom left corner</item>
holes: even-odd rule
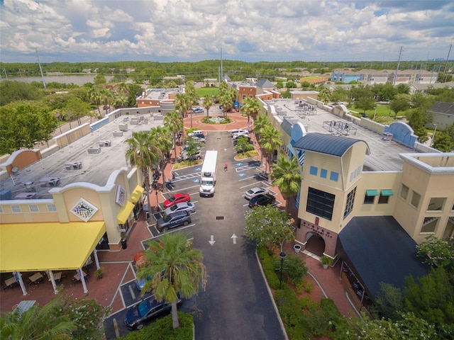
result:
[[[60,304],[59,299],[52,299],[43,307],[36,305],[22,313],[14,310],[8,314],[2,314],[0,339],[72,339],[71,332],[76,329],[76,324],[65,314],[54,314],[58,304]]]

